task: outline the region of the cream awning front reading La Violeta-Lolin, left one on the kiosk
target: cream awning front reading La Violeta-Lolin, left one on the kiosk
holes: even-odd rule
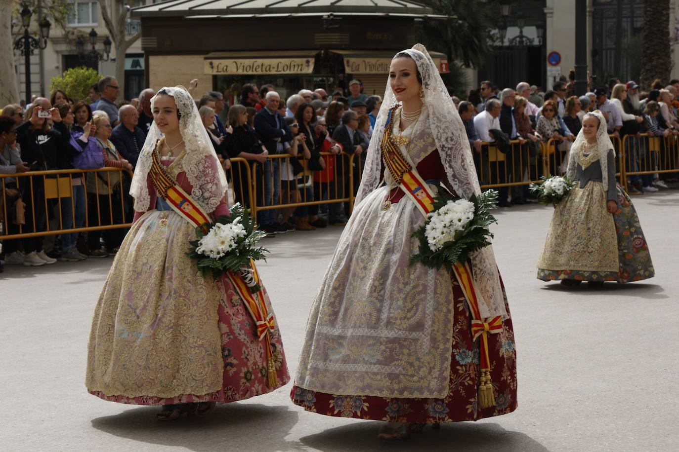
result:
[[[205,56],[205,75],[311,74],[318,50],[213,52]]]

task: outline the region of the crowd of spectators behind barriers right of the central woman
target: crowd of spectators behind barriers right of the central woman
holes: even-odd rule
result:
[[[653,90],[639,92],[634,81],[611,79],[608,86],[596,87],[578,97],[573,94],[573,78],[571,74],[570,81],[556,81],[546,92],[526,82],[518,83],[515,89],[500,89],[491,81],[482,81],[478,89],[469,91],[466,100],[453,98],[481,185],[536,180],[543,163],[553,174],[564,173],[568,150],[582,127],[583,117],[594,110],[603,113],[610,135],[620,138],[620,142],[624,140],[628,171],[649,171],[629,177],[629,192],[657,192],[667,188],[667,180],[674,182],[672,174],[663,180],[661,174],[650,173],[659,169],[658,154],[647,152],[649,141],[641,133],[651,137],[679,135],[679,80],[667,85],[657,80]],[[514,142],[511,146],[510,141]],[[549,144],[547,155],[541,152],[540,142]],[[618,146],[619,142],[614,142]],[[661,152],[665,143],[661,141]],[[503,154],[500,158],[492,155],[498,151]],[[526,184],[504,186],[498,191],[501,207],[530,202]]]

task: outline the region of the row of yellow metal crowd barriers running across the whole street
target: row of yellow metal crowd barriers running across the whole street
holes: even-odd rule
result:
[[[617,152],[616,176],[623,188],[627,188],[627,176],[679,173],[679,138],[648,133],[642,133],[639,138],[610,137]],[[255,218],[263,211],[304,205],[348,203],[352,209],[363,173],[364,155],[344,152],[321,155],[326,164],[323,171],[312,171],[308,161],[288,154],[270,155],[266,163],[231,159],[231,167],[227,169],[229,203],[240,202]],[[563,174],[568,165],[567,156],[568,144],[554,139],[540,142],[539,148],[534,149],[529,143],[514,140],[507,153],[492,142],[484,142],[481,152],[473,150],[481,188],[527,186],[539,182],[540,176]],[[299,161],[301,172],[292,174],[292,159]],[[128,194],[130,174],[119,168],[0,174],[0,225],[3,226],[0,240],[129,228],[134,213]],[[83,180],[85,198],[85,220],[81,227],[76,225],[73,209],[73,180],[77,178]],[[87,178],[90,178],[90,189],[94,188],[92,192],[87,190]],[[8,179],[14,182],[7,182]],[[112,187],[102,192],[102,186]],[[11,188],[20,190],[26,205],[22,224],[17,224],[16,213],[12,211],[16,200],[10,196]],[[65,227],[67,217],[70,220],[67,224],[73,226]]]

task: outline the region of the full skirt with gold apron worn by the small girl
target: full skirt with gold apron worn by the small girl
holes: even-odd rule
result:
[[[634,205],[629,199],[629,195],[617,186],[618,202],[621,209],[614,214],[606,213],[606,196],[603,190],[598,190],[601,184],[589,182],[584,189],[575,188],[568,198],[562,201],[563,206],[555,209],[552,224],[547,234],[547,241],[543,255],[538,262],[538,279],[543,281],[555,281],[562,279],[573,279],[576,281],[615,281],[617,283],[629,283],[631,281],[641,281],[642,279],[653,278],[655,270],[650,259],[648,243],[644,237]],[[577,190],[577,191],[576,191]],[[591,203],[583,203],[583,194],[588,190],[591,194]],[[576,196],[571,199],[571,195]],[[577,195],[581,194],[580,197]],[[576,202],[574,202],[576,201]],[[592,218],[583,213],[594,211],[596,218]],[[604,218],[605,217],[605,218]],[[564,220],[566,219],[566,220]],[[572,234],[568,228],[559,226],[568,219],[581,219],[583,234],[576,241],[572,239]],[[608,222],[612,224],[608,224]],[[603,228],[609,228],[603,230]],[[571,228],[574,230],[575,228]],[[601,237],[608,235],[614,237],[612,243],[605,243],[606,249],[602,246],[602,252],[613,253],[613,269],[591,268],[589,262],[583,262],[578,258],[568,259],[569,250],[572,256],[584,255],[579,253],[580,243],[595,242]],[[592,239],[593,237],[593,239]],[[550,256],[559,256],[562,260],[559,264],[546,265],[553,260]],[[565,259],[565,260],[564,260]],[[617,270],[614,270],[617,269]]]

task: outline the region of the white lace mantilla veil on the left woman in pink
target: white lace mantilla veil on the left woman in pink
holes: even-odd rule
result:
[[[187,179],[193,187],[191,198],[207,213],[210,213],[223,199],[227,182],[212,141],[200,120],[196,102],[182,86],[163,87],[158,91],[160,92],[175,98],[175,104],[177,104],[177,111],[180,115],[179,131],[184,139],[184,152],[179,157],[181,161],[177,164],[183,171],[186,171]],[[151,98],[151,110],[157,97],[158,94]],[[139,152],[139,160],[134,169],[132,186],[130,186],[130,194],[134,197],[134,210],[136,211],[144,212],[153,207],[149,205],[151,197],[147,176],[151,169],[151,153],[155,150],[155,144],[163,136],[164,134],[153,121],[144,146]]]

